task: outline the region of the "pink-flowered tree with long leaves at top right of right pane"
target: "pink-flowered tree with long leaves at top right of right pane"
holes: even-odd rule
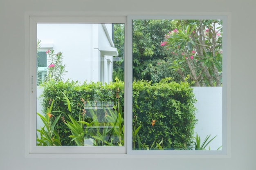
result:
[[[195,86],[221,86],[222,20],[179,20],[177,27],[161,44],[171,68],[183,81],[189,75]]]

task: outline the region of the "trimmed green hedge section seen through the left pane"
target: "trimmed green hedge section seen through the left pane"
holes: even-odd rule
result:
[[[118,88],[120,90],[119,98],[117,99]],[[54,99],[52,110],[61,111],[56,112],[57,116],[61,113],[63,115],[63,121],[60,121],[58,126],[61,135],[61,144],[63,146],[69,146],[73,145],[72,139],[68,137],[72,133],[64,123],[65,120],[71,121],[68,115],[71,115],[75,120],[80,120],[79,115],[83,113],[84,107],[88,107],[88,102],[86,101],[89,101],[93,107],[113,107],[114,109],[118,109],[117,102],[119,100],[121,107],[124,108],[124,82],[116,79],[115,82],[110,84],[102,84],[101,82],[84,82],[83,84],[78,84],[78,82],[73,81],[55,82],[50,80],[44,84],[44,91],[41,97],[43,98],[43,108],[45,109],[43,112],[52,103],[52,99]],[[104,115],[101,114],[99,116],[101,116],[101,120],[104,120]],[[123,115],[121,116],[123,117]],[[86,114],[84,120],[90,123],[92,117]]]

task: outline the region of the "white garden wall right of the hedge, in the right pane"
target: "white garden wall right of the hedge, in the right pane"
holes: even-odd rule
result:
[[[195,107],[198,119],[195,132],[200,136],[201,142],[211,135],[213,139],[209,144],[211,150],[222,146],[222,87],[193,87],[197,102]],[[209,146],[206,149],[209,149]]]

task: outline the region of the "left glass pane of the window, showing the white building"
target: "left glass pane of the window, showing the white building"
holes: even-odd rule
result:
[[[37,146],[124,146],[124,24],[37,24]]]

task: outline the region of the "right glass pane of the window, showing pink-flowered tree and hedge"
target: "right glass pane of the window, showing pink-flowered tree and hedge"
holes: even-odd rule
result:
[[[132,150],[222,150],[222,20],[132,20]]]

